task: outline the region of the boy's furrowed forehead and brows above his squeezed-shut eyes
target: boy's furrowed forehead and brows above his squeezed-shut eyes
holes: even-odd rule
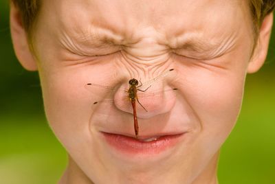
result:
[[[148,38],[148,42],[172,48],[186,43],[199,49],[206,45],[204,50],[219,45],[224,39],[219,38],[219,33],[232,34],[239,30],[245,19],[240,8],[231,1],[82,2],[45,1],[41,10],[43,24],[46,21],[47,27],[58,30],[58,34],[68,34],[82,44],[93,40],[95,47],[110,43],[127,45]],[[49,9],[51,11],[47,11]],[[193,44],[196,39],[200,42],[197,45]]]

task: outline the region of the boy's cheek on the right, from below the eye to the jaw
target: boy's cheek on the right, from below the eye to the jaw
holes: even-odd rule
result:
[[[187,68],[187,69],[186,69]],[[241,108],[245,67],[214,71],[182,68],[181,99],[196,124],[188,152],[194,165],[206,164],[216,154],[236,123]],[[197,172],[197,168],[194,172]]]

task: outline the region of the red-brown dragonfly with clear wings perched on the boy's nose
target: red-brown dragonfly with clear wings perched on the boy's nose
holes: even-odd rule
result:
[[[164,93],[166,91],[176,91],[177,88],[173,88],[173,89],[169,89],[166,91],[157,91],[157,92],[153,92],[153,93],[148,93],[146,95],[138,95],[137,91],[140,92],[146,92],[153,84],[154,82],[159,81],[160,79],[164,78],[165,76],[167,76],[169,73],[171,73],[172,71],[175,71],[175,69],[168,69],[168,71],[164,71],[164,73],[162,73],[161,75],[157,76],[156,78],[153,78],[151,80],[148,80],[147,82],[144,82],[144,84],[142,84],[141,80],[140,83],[138,82],[137,79],[132,78],[129,80],[129,89],[124,89],[123,91],[126,92],[126,97],[128,98],[129,102],[131,102],[131,106],[132,106],[132,110],[133,110],[133,125],[134,125],[134,130],[135,130],[135,138],[138,139],[138,134],[139,134],[139,126],[138,126],[138,122],[137,122],[137,108],[136,108],[136,102],[144,109],[144,111],[148,112],[146,110],[146,108],[142,105],[142,103],[139,100],[140,96],[143,97],[149,97],[149,96],[156,96],[159,93]],[[109,90],[109,91],[120,91],[118,89],[113,89],[111,87],[107,87],[107,86],[103,86],[101,84],[94,84],[94,83],[87,83],[86,85],[86,89],[88,89],[89,91],[93,91],[94,88],[101,88],[104,90]],[[146,89],[142,89],[142,87],[146,86]],[[101,103],[106,103],[106,102],[112,102],[113,100],[102,100],[102,101],[95,101],[93,103],[93,105],[98,105]]]

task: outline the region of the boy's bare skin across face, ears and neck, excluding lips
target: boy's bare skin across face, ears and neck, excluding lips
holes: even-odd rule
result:
[[[272,14],[253,51],[245,1],[49,0],[34,27],[34,52],[13,5],[10,14],[17,57],[39,71],[47,119],[69,154],[59,183],[217,183],[219,149],[239,115],[246,74],[265,60]],[[148,113],[137,106],[140,135],[186,130],[184,139],[165,157],[109,150],[100,131],[134,134],[129,102],[85,84],[127,88],[130,78],[146,81],[171,68],[150,90],[177,87],[177,95],[144,101]],[[91,108],[110,95],[122,103],[107,113]]]

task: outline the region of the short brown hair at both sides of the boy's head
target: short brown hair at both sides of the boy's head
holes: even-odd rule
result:
[[[32,27],[39,14],[41,0],[11,0],[21,11],[23,26],[30,38]],[[267,14],[270,14],[275,7],[275,0],[248,0],[250,1],[250,12],[254,23],[256,37],[259,34],[259,27]]]

